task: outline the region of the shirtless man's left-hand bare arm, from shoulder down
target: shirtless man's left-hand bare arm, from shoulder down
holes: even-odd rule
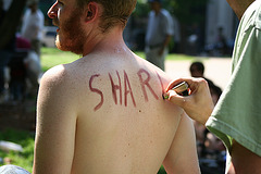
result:
[[[63,66],[41,79],[33,174],[71,174],[76,133],[76,101],[71,89]]]

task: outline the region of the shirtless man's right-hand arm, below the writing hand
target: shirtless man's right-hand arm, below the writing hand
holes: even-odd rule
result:
[[[196,137],[191,120],[185,114],[176,130],[172,146],[163,161],[169,174],[199,174]]]

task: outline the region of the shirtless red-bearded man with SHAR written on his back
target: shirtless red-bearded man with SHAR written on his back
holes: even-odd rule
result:
[[[34,174],[199,173],[191,121],[162,99],[171,78],[124,44],[136,0],[59,0],[57,46],[83,58],[40,83]]]

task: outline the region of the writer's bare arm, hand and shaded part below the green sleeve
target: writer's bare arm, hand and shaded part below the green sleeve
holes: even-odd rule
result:
[[[191,95],[183,97],[175,91],[170,90],[181,82],[187,82],[191,89]],[[206,124],[214,105],[211,100],[208,84],[203,78],[181,78],[171,83],[166,89],[170,96],[169,100],[184,108],[186,113],[194,120]],[[261,157],[251,152],[240,144],[234,140],[232,146],[232,163],[228,166],[228,174],[235,173],[261,173]]]

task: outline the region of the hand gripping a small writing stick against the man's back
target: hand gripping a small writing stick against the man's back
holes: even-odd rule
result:
[[[179,96],[174,90],[171,90],[182,82],[188,83],[191,90],[189,96]],[[208,82],[203,78],[179,78],[174,80],[166,88],[166,94],[169,96],[167,100],[182,107],[189,117],[203,125],[214,109]]]

